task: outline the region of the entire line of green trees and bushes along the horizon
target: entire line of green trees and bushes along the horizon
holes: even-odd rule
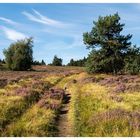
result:
[[[89,73],[140,73],[140,47],[132,45],[131,34],[122,34],[124,26],[118,13],[100,16],[92,30],[83,34],[83,42],[90,50],[88,57],[71,59],[67,66],[86,66]],[[32,65],[45,65],[44,60],[33,61],[32,48],[32,38],[12,43],[4,50],[6,66],[10,70],[28,70]],[[63,66],[63,59],[55,55],[49,65]]]

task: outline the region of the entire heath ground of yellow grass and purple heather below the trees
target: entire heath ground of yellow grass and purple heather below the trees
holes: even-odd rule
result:
[[[35,66],[0,73],[0,136],[140,136],[140,77]]]

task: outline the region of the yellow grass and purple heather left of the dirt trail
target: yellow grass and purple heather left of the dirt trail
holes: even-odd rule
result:
[[[10,80],[0,89],[0,136],[56,135],[55,118],[63,93],[60,89],[49,89],[79,70],[45,68],[49,72],[0,73]]]

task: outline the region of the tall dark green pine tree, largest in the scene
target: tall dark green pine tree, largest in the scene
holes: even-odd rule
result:
[[[122,35],[124,24],[120,23],[118,13],[99,17],[93,22],[91,32],[83,34],[83,41],[92,49],[87,61],[87,69],[93,72],[111,72],[117,74],[124,68],[132,35]]]

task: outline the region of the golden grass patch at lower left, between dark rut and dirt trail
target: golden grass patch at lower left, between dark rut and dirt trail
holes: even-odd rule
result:
[[[34,105],[20,119],[9,125],[3,136],[54,136],[54,117],[53,110]]]

